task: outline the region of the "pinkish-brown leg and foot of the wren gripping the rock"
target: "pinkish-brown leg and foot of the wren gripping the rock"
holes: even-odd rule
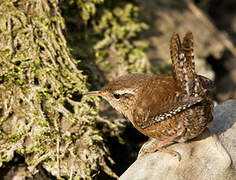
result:
[[[171,154],[172,156],[178,156],[178,160],[180,161],[181,160],[181,155],[177,151],[167,149],[165,147],[165,145],[167,145],[169,142],[172,142],[175,138],[182,135],[185,131],[186,131],[185,128],[182,128],[176,134],[166,138],[165,140],[161,141],[160,143],[153,144],[152,147],[143,148],[142,151],[146,152],[146,153],[155,152],[157,150],[164,151],[164,152],[167,152],[167,153]]]

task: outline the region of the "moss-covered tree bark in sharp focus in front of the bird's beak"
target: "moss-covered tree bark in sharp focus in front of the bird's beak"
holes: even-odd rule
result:
[[[14,154],[28,170],[91,178],[113,175],[96,123],[98,99],[69,52],[57,0],[0,2],[0,167]],[[91,105],[92,104],[92,105]]]

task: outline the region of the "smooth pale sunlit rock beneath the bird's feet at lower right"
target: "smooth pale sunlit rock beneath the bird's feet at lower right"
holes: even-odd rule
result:
[[[139,156],[120,180],[235,180],[235,110],[235,100],[218,105],[214,121],[200,137],[170,145],[168,148],[181,154],[180,162],[164,152],[146,153]]]

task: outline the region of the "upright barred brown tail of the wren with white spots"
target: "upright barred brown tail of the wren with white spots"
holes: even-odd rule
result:
[[[196,97],[204,92],[202,83],[195,71],[193,34],[191,32],[186,33],[183,43],[181,43],[179,35],[173,33],[170,40],[170,55],[173,76],[186,94]]]

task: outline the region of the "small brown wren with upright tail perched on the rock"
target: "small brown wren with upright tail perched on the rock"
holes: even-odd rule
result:
[[[193,35],[186,33],[183,43],[177,33],[170,40],[173,64],[171,75],[128,74],[102,88],[85,94],[101,96],[146,136],[161,140],[143,149],[173,155],[170,142],[185,142],[200,135],[213,120],[210,90],[213,82],[195,72]]]

